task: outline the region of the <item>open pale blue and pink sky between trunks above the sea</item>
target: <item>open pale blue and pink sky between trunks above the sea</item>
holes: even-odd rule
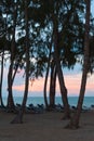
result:
[[[91,7],[91,12],[94,17],[94,0],[92,0],[92,7]],[[6,95],[6,77],[8,77],[8,69],[6,67],[4,68],[4,80],[3,80],[3,94]],[[82,72],[81,72],[81,66],[76,65],[75,69],[68,70],[64,69],[64,78],[65,78],[65,85],[68,90],[68,95],[79,95],[80,91],[80,85],[81,85],[81,77],[82,77]],[[50,78],[49,78],[50,80]],[[59,92],[59,85],[58,80],[57,87],[56,87],[56,95],[61,95]],[[44,85],[44,78],[39,78],[35,80],[35,82],[31,85],[29,82],[29,95],[31,97],[42,97],[43,95],[43,85]],[[15,82],[13,86],[13,94],[15,97],[21,97],[24,94],[24,78],[23,78],[23,72],[18,73]],[[50,82],[48,82],[48,91],[49,91],[49,86]],[[49,93],[48,93],[49,94]],[[93,95],[94,97],[94,75],[90,75],[88,77],[88,82],[86,82],[86,90],[85,90],[85,95]]]

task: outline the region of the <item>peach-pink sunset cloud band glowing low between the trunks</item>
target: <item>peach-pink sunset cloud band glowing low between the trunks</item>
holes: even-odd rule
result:
[[[59,85],[58,85],[58,81],[56,81],[56,82],[57,82],[56,92],[59,93]],[[79,94],[80,84],[81,84],[81,74],[66,75],[65,76],[65,84],[66,84],[69,95]],[[41,91],[43,91],[43,86],[44,86],[44,78],[37,79],[33,81],[32,86],[29,82],[29,91],[41,92]],[[50,82],[48,82],[48,91],[49,91],[49,86],[50,86]],[[93,87],[94,87],[94,75],[92,77],[88,78],[86,91],[93,91]],[[19,86],[16,85],[16,86],[13,86],[13,89],[18,90],[18,91],[24,91],[25,86],[24,85],[19,85]]]

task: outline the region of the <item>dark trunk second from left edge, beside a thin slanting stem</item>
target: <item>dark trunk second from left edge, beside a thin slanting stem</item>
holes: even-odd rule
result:
[[[9,111],[14,111],[14,100],[13,100],[13,63],[15,59],[15,28],[16,28],[16,17],[17,17],[17,2],[13,3],[14,13],[13,13],[13,33],[12,33],[12,43],[11,43],[11,61],[10,61],[10,67],[9,67],[9,74],[8,74],[8,108]]]

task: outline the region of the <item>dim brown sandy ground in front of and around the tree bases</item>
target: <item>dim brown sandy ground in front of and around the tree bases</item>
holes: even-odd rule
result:
[[[0,112],[0,141],[94,141],[94,111],[81,114],[78,130],[64,129],[58,112],[26,114],[21,125],[10,124],[14,116]]]

